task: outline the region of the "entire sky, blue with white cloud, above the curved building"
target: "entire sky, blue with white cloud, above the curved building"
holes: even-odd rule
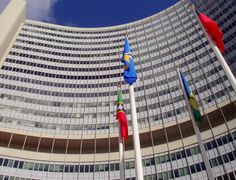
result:
[[[1,9],[9,0],[0,0]],[[104,27],[153,15],[178,0],[27,0],[27,18],[75,27]]]

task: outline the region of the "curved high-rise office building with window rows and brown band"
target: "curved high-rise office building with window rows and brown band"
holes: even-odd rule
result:
[[[120,62],[126,33],[145,179],[207,179],[176,65],[200,103],[215,178],[236,178],[236,93],[187,2],[104,28],[26,20],[25,5],[11,1],[0,15],[0,179],[119,179],[119,82],[129,123],[125,175],[135,179]]]

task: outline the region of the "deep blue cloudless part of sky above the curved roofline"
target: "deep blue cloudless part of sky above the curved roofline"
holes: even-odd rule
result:
[[[59,0],[54,6],[58,24],[80,27],[118,25],[155,14],[177,0]]]

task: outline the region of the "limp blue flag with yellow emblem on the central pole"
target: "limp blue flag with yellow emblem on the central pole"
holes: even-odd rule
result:
[[[124,79],[129,85],[132,85],[133,83],[135,83],[138,77],[135,71],[134,60],[131,56],[130,46],[127,37],[125,38],[124,52],[121,62],[124,63],[125,67]]]

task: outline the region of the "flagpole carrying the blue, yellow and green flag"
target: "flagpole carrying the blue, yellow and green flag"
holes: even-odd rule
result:
[[[200,150],[201,150],[202,159],[203,159],[203,162],[204,162],[205,167],[206,167],[206,173],[207,173],[207,176],[208,176],[209,180],[214,180],[214,176],[213,176],[213,173],[212,173],[212,169],[211,169],[209,160],[208,160],[208,158],[207,158],[207,154],[206,154],[205,147],[204,147],[204,145],[203,145],[201,133],[200,133],[200,131],[199,131],[198,125],[197,125],[196,120],[195,120],[195,117],[194,117],[194,115],[193,115],[193,111],[192,111],[192,108],[191,108],[191,106],[190,106],[190,103],[189,103],[187,94],[186,94],[186,92],[185,92],[184,84],[183,84],[183,81],[182,81],[182,78],[181,78],[181,75],[180,75],[180,72],[179,72],[179,71],[180,71],[180,70],[179,70],[179,68],[177,67],[177,73],[178,73],[178,76],[179,76],[181,88],[182,88],[182,91],[183,91],[183,93],[184,93],[184,98],[185,98],[185,102],[186,102],[186,104],[187,104],[187,108],[188,108],[188,111],[189,111],[189,116],[190,116],[190,119],[191,119],[191,121],[192,121],[193,129],[194,129],[194,131],[195,131],[195,134],[196,134],[196,137],[197,137],[197,140],[198,140],[199,148],[200,148]]]

